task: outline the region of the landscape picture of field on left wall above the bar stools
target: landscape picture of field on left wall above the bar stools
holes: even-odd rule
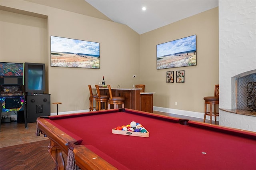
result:
[[[100,68],[100,43],[51,36],[51,66]]]

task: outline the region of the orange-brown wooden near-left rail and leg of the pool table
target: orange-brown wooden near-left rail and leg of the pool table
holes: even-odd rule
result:
[[[68,149],[74,152],[75,159],[78,160],[76,164],[82,170],[117,170],[114,166],[100,158],[100,156],[90,151],[84,145],[78,145],[76,139],[46,121],[46,117],[38,117],[37,125],[42,134],[50,139],[48,152],[56,164],[56,170],[66,169],[62,151],[68,155]]]

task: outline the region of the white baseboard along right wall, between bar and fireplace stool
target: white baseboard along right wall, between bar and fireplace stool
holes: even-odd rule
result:
[[[204,119],[204,113],[200,113],[200,112],[184,111],[184,110],[170,109],[170,108],[156,107],[156,106],[153,106],[153,110],[159,111],[159,112],[165,112],[165,113],[172,113],[175,115],[182,115],[182,116],[189,116],[189,117]],[[210,120],[210,116],[206,116],[206,120]],[[217,121],[219,121],[218,117],[217,117]]]

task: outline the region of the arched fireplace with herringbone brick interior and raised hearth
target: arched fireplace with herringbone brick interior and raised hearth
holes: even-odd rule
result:
[[[252,127],[256,120],[256,110],[251,111],[251,107],[248,107],[248,83],[256,82],[256,70],[247,71],[231,78],[232,85],[232,109],[220,108],[220,114],[222,115],[222,124],[230,125],[230,127],[244,127],[244,130],[250,130],[256,132],[256,126]],[[250,87],[252,93],[250,95],[255,99],[256,87]],[[251,100],[250,100],[251,101]],[[255,102],[255,100],[254,100]],[[252,104],[251,102],[249,102]],[[256,103],[254,103],[256,105]],[[223,114],[224,113],[224,114]],[[232,119],[230,119],[232,117]],[[232,120],[232,121],[231,121]],[[234,124],[235,123],[235,124]]]

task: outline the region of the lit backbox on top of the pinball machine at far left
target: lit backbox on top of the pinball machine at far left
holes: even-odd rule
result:
[[[1,85],[23,85],[23,63],[0,62]]]

